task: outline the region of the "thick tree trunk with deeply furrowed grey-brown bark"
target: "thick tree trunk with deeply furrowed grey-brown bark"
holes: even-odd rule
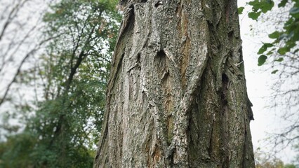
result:
[[[120,4],[94,167],[255,167],[237,0]]]

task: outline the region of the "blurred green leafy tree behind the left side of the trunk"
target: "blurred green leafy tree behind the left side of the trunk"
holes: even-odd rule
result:
[[[92,167],[119,27],[116,3],[62,0],[44,15],[44,38],[55,38],[22,76],[42,88],[41,100],[22,106],[30,117],[22,133],[0,144],[2,167]]]

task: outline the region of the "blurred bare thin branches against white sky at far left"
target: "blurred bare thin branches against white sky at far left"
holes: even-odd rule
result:
[[[3,134],[14,132],[20,127],[18,124],[8,124],[18,120],[11,109],[34,99],[24,97],[29,90],[20,89],[22,85],[18,77],[21,71],[27,70],[29,64],[36,58],[34,54],[43,48],[47,41],[46,38],[40,38],[39,29],[44,27],[41,19],[42,13],[48,9],[48,2],[35,0],[0,2],[0,113],[2,114],[0,120],[4,121],[0,125],[0,140],[5,139]]]

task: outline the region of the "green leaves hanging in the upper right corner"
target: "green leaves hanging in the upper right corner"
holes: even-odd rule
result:
[[[255,0],[248,3],[252,6],[251,13],[248,13],[248,17],[253,20],[258,20],[261,13],[267,13],[274,7],[274,1],[272,0]],[[284,22],[284,27],[281,30],[277,30],[269,34],[269,38],[273,39],[272,43],[263,43],[260,50],[258,50],[258,66],[265,64],[266,59],[274,54],[280,55],[277,59],[273,59],[274,62],[284,61],[284,55],[288,52],[296,54],[299,51],[299,1],[295,0],[281,0],[278,3],[278,8],[284,8],[289,4],[291,9],[288,11],[288,20]],[[277,73],[278,70],[272,71]]]

